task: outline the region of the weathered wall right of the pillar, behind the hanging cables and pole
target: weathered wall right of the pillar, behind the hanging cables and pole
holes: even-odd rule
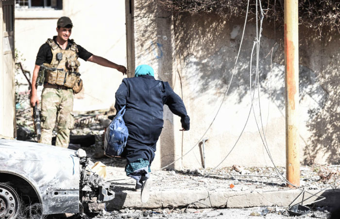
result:
[[[199,139],[206,127],[212,121],[224,92],[231,78],[235,58],[241,40],[244,18],[223,20],[214,15],[190,16],[181,15],[176,18],[175,36],[179,58],[182,64],[182,84],[184,100],[188,105],[192,120],[192,137],[185,141],[183,147],[187,151],[192,144],[190,140]],[[213,34],[212,34],[213,33]],[[226,156],[235,144],[241,132],[251,107],[250,96],[250,56],[255,40],[256,28],[254,22],[248,22],[243,45],[228,95],[222,105],[213,126],[209,129],[206,143],[206,162],[208,167],[214,167]],[[308,33],[308,34],[306,34]],[[324,135],[329,131],[327,125],[316,117],[315,113],[327,106],[329,91],[324,89],[322,78],[334,75],[339,66],[328,64],[337,61],[339,52],[334,48],[339,44],[339,33],[328,33],[329,37],[319,38],[315,33],[300,27],[300,160],[303,163],[337,163],[334,156],[334,145]],[[332,37],[330,37],[332,36]],[[285,99],[284,99],[284,48],[283,30],[274,29],[265,22],[259,52],[260,102],[255,92],[254,109],[251,111],[248,124],[231,155],[223,162],[224,165],[241,164],[247,166],[271,165],[256,125],[264,130],[273,161],[285,165]],[[330,55],[331,54],[331,55]],[[333,57],[334,55],[334,57]],[[328,57],[327,57],[328,56]],[[324,58],[327,57],[327,58]],[[253,56],[253,68],[255,68]],[[326,67],[327,66],[327,67]],[[255,72],[253,70],[253,83]],[[333,77],[337,81],[336,77]],[[332,83],[328,79],[328,83]],[[332,89],[336,90],[336,89]],[[197,107],[198,103],[206,103]],[[260,109],[261,115],[260,117]],[[335,110],[334,107],[332,110]],[[321,110],[323,114],[324,110]],[[255,114],[255,116],[254,116]],[[318,116],[315,116],[317,114]],[[327,114],[327,113],[326,113]],[[262,130],[263,124],[263,130]],[[334,127],[336,128],[336,127]],[[328,129],[328,130],[327,130]],[[334,140],[334,137],[332,137]],[[322,140],[328,141],[326,144]],[[335,138],[336,139],[336,138]],[[323,145],[323,146],[321,146]],[[317,147],[323,150],[316,151]],[[187,156],[184,166],[197,166],[196,157],[200,160],[201,153],[196,148]],[[329,156],[335,158],[330,160]],[[196,164],[196,165],[195,165]]]

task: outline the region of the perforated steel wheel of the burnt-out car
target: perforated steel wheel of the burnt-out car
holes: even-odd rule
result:
[[[0,219],[15,219],[19,213],[20,202],[16,190],[0,183]]]

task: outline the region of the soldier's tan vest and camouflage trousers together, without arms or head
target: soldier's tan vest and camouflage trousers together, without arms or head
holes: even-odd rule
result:
[[[62,50],[53,39],[48,39],[52,59],[45,61],[44,66],[57,70],[46,70],[44,89],[41,94],[41,138],[39,143],[51,145],[52,132],[57,122],[55,146],[68,147],[70,129],[74,119],[72,88],[80,77],[78,48],[73,40],[69,40],[67,49]],[[61,60],[57,54],[62,54]],[[62,70],[60,70],[62,69]]]

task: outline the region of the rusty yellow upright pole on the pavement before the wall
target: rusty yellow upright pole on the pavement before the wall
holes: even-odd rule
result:
[[[287,180],[300,185],[298,0],[285,0],[285,95]],[[287,186],[292,187],[287,183]]]

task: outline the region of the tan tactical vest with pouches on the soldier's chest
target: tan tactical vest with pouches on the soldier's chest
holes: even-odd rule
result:
[[[53,39],[48,39],[46,41],[50,45],[52,51],[52,61],[49,67],[56,68],[57,70],[47,70],[45,82],[73,88],[76,82],[79,80],[80,62],[77,60],[78,48],[74,41],[71,41],[72,45],[67,50],[62,50]],[[63,55],[61,60],[57,59],[58,53]]]

